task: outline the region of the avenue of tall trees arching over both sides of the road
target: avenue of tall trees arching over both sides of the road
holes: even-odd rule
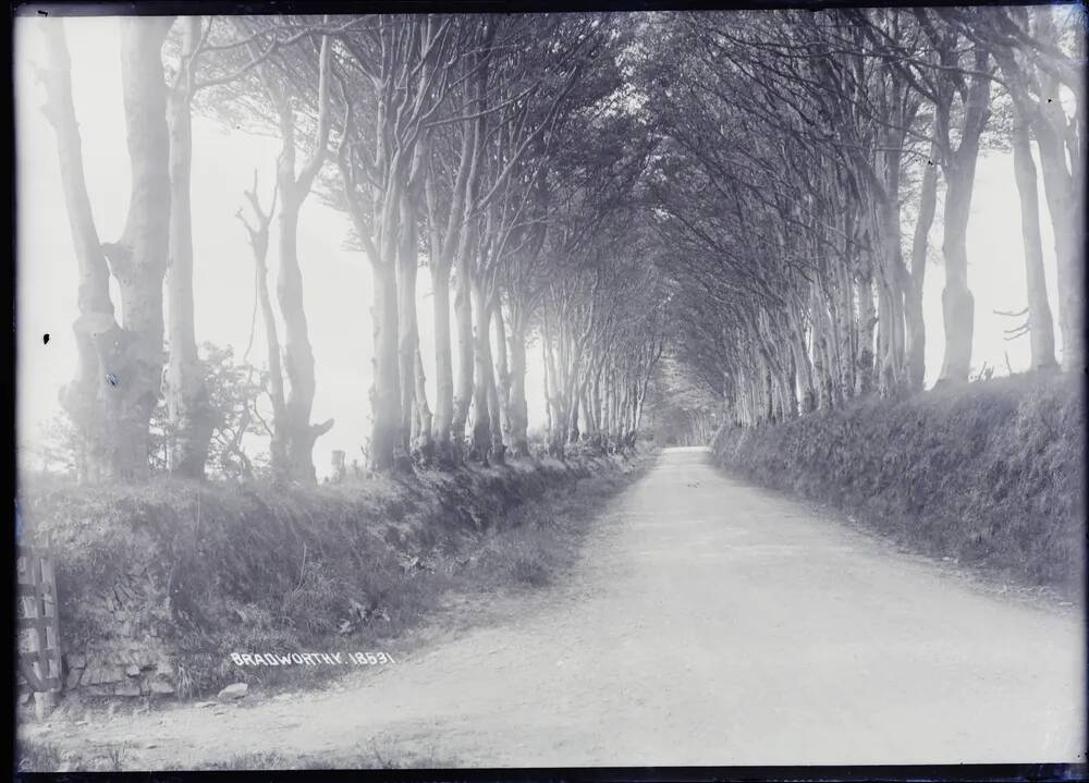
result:
[[[627,448],[663,355],[742,425],[921,390],[934,254],[939,382],[966,381],[988,146],[1012,149],[1021,204],[1028,299],[1010,337],[1057,371],[1055,308],[1063,368],[1080,368],[1084,22],[1068,9],[123,19],[132,198],[113,241],[91,216],[64,25],[38,24],[78,269],[61,401],[83,481],[148,475],[160,425],[173,475],[205,476],[212,454],[248,470],[252,431],[277,478],[315,480],[335,423],[313,420],[307,198],[347,216],[371,271],[375,470],[524,456],[537,393],[550,453]],[[256,380],[197,351],[194,113],[280,139],[274,182],[238,193],[268,351]],[[543,389],[527,389],[538,355]]]

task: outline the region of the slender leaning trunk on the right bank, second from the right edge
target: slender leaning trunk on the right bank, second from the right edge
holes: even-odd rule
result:
[[[1028,333],[1032,369],[1050,369],[1055,362],[1055,332],[1043,277],[1043,245],[1040,240],[1040,203],[1036,163],[1029,146],[1028,123],[1019,110],[1013,124],[1014,175],[1020,198],[1021,236],[1025,241],[1025,283],[1028,294]]]

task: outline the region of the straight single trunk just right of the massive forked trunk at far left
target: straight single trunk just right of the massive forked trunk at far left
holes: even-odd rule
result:
[[[215,412],[193,323],[192,91],[187,63],[200,37],[200,16],[183,17],[182,75],[167,99],[170,132],[170,266],[167,270],[168,343],[166,394],[170,416],[167,466],[171,474],[203,478]]]

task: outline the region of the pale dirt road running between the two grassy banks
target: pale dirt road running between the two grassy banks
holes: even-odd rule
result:
[[[330,766],[1084,760],[1080,614],[666,450],[573,578],[292,700],[62,732],[135,769],[255,751]],[[155,745],[149,748],[147,745]],[[376,755],[377,754],[377,755]]]

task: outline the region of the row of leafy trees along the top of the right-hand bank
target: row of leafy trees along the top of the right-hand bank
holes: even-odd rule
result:
[[[1053,90],[1077,91],[1069,27],[1043,8],[680,13],[656,25],[633,72],[662,138],[646,182],[677,284],[677,354],[732,418],[759,424],[871,390],[920,390],[935,220],[945,298],[957,302],[945,311],[941,377],[967,379],[976,158],[1007,147],[1012,98],[1041,156],[1062,146],[1052,136],[1079,147],[1067,117],[1076,101],[1059,109],[1040,91],[1048,78],[1033,75],[1039,66]],[[1041,164],[1056,194],[1078,182],[1057,158]],[[1068,219],[1057,201],[1049,212],[1060,279],[1073,282]],[[1042,271],[1028,277],[1024,331],[1039,337],[1032,360],[1044,367],[1055,360],[1052,317]],[[1060,298],[1061,325],[1077,321],[1077,299]],[[1079,333],[1064,328],[1064,366],[1081,362]]]

